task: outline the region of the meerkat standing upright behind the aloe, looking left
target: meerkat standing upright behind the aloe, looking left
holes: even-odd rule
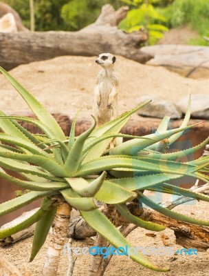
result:
[[[114,71],[116,58],[109,54],[100,54],[96,63],[102,66],[94,90],[94,115],[97,126],[118,116],[118,77]]]

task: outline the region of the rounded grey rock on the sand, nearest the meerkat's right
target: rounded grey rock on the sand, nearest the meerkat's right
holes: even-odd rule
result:
[[[144,117],[155,117],[155,118],[163,118],[165,115],[169,116],[170,119],[180,119],[181,118],[181,110],[177,108],[175,103],[172,101],[164,101],[159,97],[153,96],[142,96],[137,100],[137,104],[144,103],[144,101],[148,101],[152,99],[151,103],[148,103],[147,106],[140,109],[137,114]]]

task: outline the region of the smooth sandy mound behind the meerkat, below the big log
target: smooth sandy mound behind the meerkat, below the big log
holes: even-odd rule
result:
[[[83,106],[83,114],[92,113],[94,85],[100,66],[95,57],[56,57],[22,65],[10,71],[32,94],[52,112],[74,115]],[[117,57],[115,70],[120,79],[120,112],[137,105],[137,98],[153,95],[170,101],[181,100],[192,93],[207,94],[209,79],[186,79],[165,68],[153,68]],[[10,83],[0,76],[0,110],[28,110]]]

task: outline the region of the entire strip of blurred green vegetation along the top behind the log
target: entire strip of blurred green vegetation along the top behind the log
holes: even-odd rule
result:
[[[29,0],[4,0],[21,15],[25,27],[30,28]],[[143,29],[149,34],[149,44],[163,37],[163,32],[188,24],[199,34],[189,40],[193,45],[208,45],[209,0],[34,0],[35,30],[76,31],[93,23],[106,3],[115,9],[127,5],[130,11],[120,28],[126,32]]]

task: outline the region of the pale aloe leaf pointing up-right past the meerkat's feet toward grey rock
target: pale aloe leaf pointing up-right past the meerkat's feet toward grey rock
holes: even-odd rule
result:
[[[89,137],[89,139],[87,139],[87,141],[85,142],[84,150],[86,150],[86,148],[88,148],[92,141],[94,141],[94,139],[97,137],[101,137],[102,135],[118,134],[121,128],[127,123],[127,121],[129,121],[131,115],[137,112],[137,110],[139,110],[140,108],[146,106],[150,102],[151,101],[146,101],[142,103],[140,106],[133,108],[131,111],[124,112],[122,115],[115,118],[114,120],[109,121],[108,123],[96,128],[93,132],[91,132],[91,137]],[[89,150],[88,155],[87,157],[85,157],[83,162],[86,163],[87,161],[91,161],[92,159],[100,157],[104,150],[107,148],[107,146],[109,146],[111,140],[111,138],[105,139],[104,141],[101,141],[100,143],[92,147],[91,150]]]

